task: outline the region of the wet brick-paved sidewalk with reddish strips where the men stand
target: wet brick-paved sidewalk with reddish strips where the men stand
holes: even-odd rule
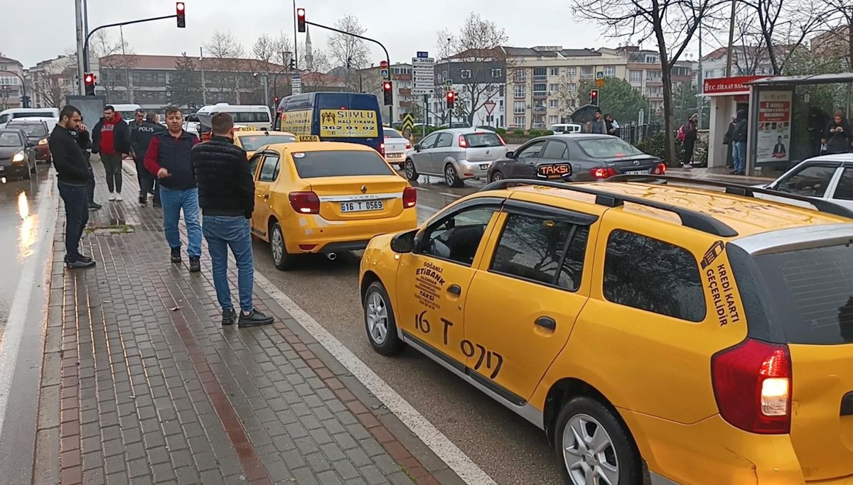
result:
[[[60,207],[33,482],[461,483],[264,292],[275,325],[220,326],[209,258],[169,263],[130,165],[123,203],[93,165],[96,268],[63,268]]]

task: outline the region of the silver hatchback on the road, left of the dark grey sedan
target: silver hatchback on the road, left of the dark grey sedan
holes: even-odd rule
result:
[[[507,153],[507,146],[494,131],[451,128],[433,131],[416,144],[406,158],[406,177],[442,176],[450,187],[461,187],[471,178],[485,178],[493,161]]]

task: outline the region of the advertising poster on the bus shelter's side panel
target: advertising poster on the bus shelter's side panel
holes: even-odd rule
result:
[[[757,164],[790,160],[792,98],[791,91],[758,93]]]

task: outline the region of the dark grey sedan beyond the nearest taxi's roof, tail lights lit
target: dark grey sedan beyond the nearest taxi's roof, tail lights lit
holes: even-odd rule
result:
[[[616,175],[664,175],[666,165],[608,135],[549,135],[528,141],[489,168],[489,181],[550,178],[589,182]]]

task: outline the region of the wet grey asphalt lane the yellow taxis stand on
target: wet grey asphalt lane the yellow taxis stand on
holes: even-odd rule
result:
[[[465,188],[448,188],[438,177],[432,177],[431,183],[421,177],[415,184],[419,220],[425,221],[483,185],[468,181]],[[415,350],[389,358],[371,349],[359,302],[357,254],[339,254],[334,261],[322,256],[305,258],[296,269],[283,273],[273,266],[269,245],[256,240],[254,251],[256,270],[325,326],[496,482],[561,482],[554,452],[541,430]]]

